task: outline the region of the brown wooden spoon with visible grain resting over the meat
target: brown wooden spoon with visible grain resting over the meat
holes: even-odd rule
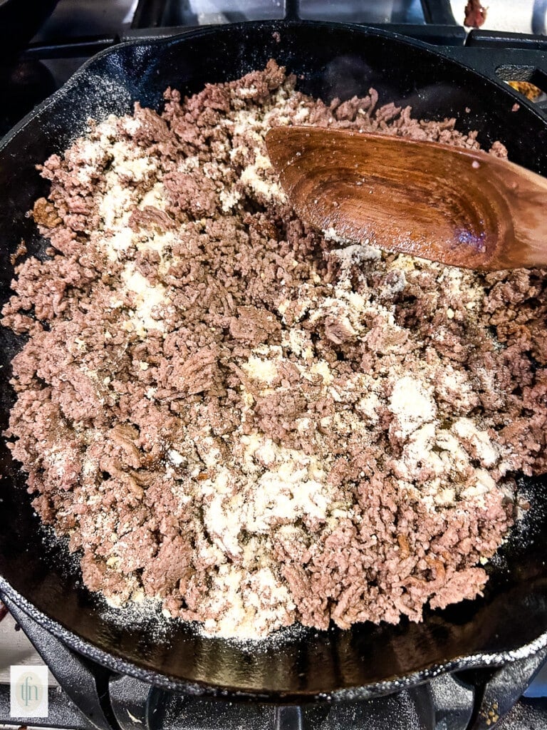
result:
[[[387,134],[275,127],[300,218],[351,242],[495,271],[547,266],[547,180],[500,158]]]

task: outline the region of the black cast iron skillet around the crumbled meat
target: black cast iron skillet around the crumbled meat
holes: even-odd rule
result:
[[[131,110],[137,99],[161,106],[172,85],[183,93],[206,82],[233,80],[269,58],[298,74],[298,87],[326,101],[365,94],[410,102],[415,115],[455,115],[460,129],[478,129],[487,147],[500,139],[513,161],[547,171],[547,125],[531,105],[476,72],[418,42],[367,28],[327,23],[250,23],[206,28],[182,37],[128,43],[98,55],[23,120],[0,145],[0,296],[9,296],[9,252],[25,239],[42,241],[26,217],[47,192],[34,165],[60,153],[89,117]],[[12,391],[9,361],[18,342],[0,334],[0,426]],[[492,569],[484,597],[427,613],[424,623],[354,626],[351,631],[301,630],[263,646],[200,637],[155,620],[123,625],[79,584],[61,548],[44,549],[29,507],[24,476],[0,445],[0,590],[68,645],[100,663],[165,688],[193,694],[304,701],[387,694],[438,671],[497,665],[547,643],[546,480],[522,483],[532,510],[513,531]]]

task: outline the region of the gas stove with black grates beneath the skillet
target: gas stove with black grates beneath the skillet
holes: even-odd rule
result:
[[[547,54],[547,40],[538,35],[545,32],[546,6],[540,0],[518,4],[498,0],[495,9],[489,9],[486,29],[470,31],[463,26],[465,0],[60,0],[31,43],[17,57],[0,61],[4,99],[0,137],[91,55],[125,40],[169,37],[196,26],[241,20],[338,20],[396,31],[451,49],[454,56],[467,54],[477,63],[486,48],[490,58],[501,62],[506,47],[521,50],[524,60],[530,51]],[[531,73],[532,77],[517,80],[539,85],[539,77]],[[440,675],[416,688],[367,701],[310,706],[221,703],[152,688],[142,680],[109,672],[69,649],[8,599],[6,604],[9,611],[0,612],[0,726],[29,722],[11,712],[10,667],[45,662],[50,669],[48,714],[32,718],[33,726],[82,730],[547,727],[547,648],[502,668]]]

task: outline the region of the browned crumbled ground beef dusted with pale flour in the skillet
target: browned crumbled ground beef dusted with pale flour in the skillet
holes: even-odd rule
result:
[[[454,120],[330,104],[271,61],[42,166],[47,261],[3,324],[8,436],[44,523],[112,604],[260,637],[422,618],[484,587],[546,469],[546,280],[348,245],[292,211],[281,124],[477,148]],[[497,143],[492,153],[505,156]]]

